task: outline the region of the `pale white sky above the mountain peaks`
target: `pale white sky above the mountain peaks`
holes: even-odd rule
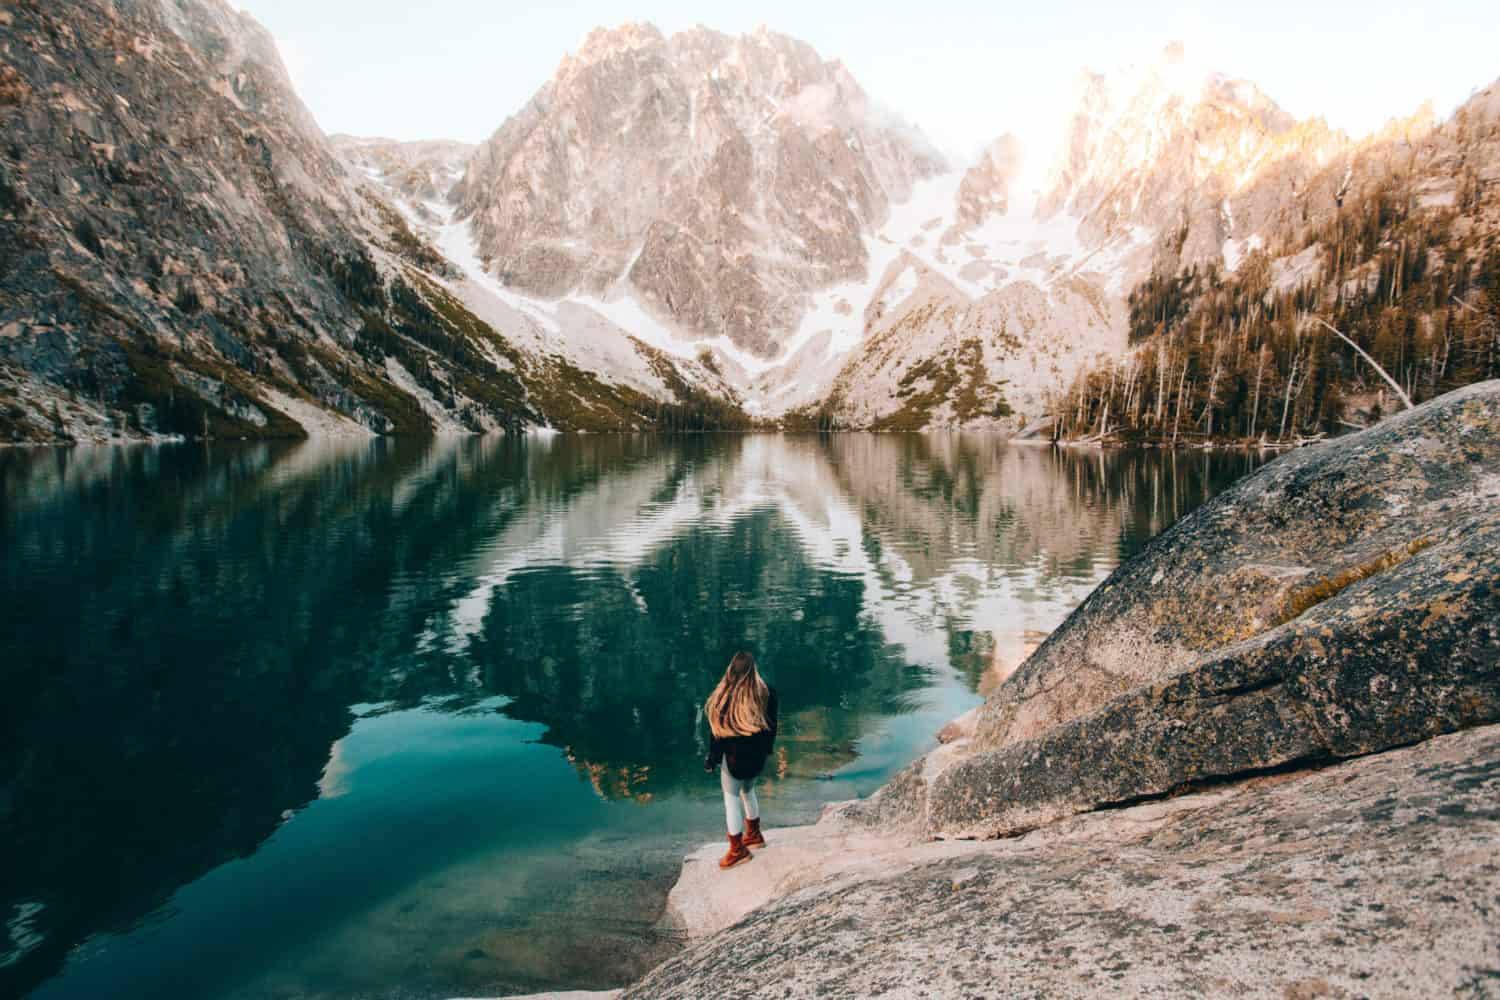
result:
[[[1190,61],[1256,82],[1298,117],[1364,135],[1424,100],[1448,114],[1500,76],[1500,3],[1320,4],[1072,0],[236,0],[276,36],[326,132],[480,141],[590,28],[765,24],[840,58],[864,88],[966,160],[1002,132],[1050,145],[1083,67]],[[1035,169],[1038,163],[1028,163]],[[1030,172],[1030,169],[1028,171]]]

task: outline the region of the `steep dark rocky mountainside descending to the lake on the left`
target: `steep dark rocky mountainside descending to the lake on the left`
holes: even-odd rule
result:
[[[0,439],[742,420],[478,319],[220,0],[0,10]]]

